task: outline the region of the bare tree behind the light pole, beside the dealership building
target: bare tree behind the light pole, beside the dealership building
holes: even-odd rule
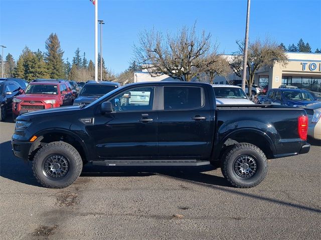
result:
[[[233,60],[230,63],[234,73],[237,76],[242,76],[242,56],[244,51],[244,42],[237,41],[239,50],[233,53]],[[254,82],[255,72],[265,66],[273,66],[276,62],[285,66],[288,62],[288,58],[284,49],[280,47],[276,41],[266,37],[263,41],[256,39],[254,42],[249,43],[248,55],[247,55],[247,71],[248,79],[246,83],[251,94],[252,84]]]

